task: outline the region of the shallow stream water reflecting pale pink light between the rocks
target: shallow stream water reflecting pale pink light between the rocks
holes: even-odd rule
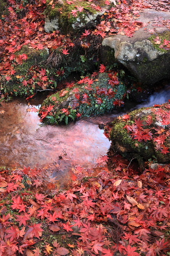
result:
[[[135,108],[161,104],[169,98],[169,90],[160,92]],[[31,101],[31,105],[37,107],[38,103]],[[64,156],[70,164],[87,168],[107,154],[110,142],[98,125],[111,122],[116,115],[83,118],[67,126],[42,126],[38,114],[28,112],[27,108],[28,103],[21,99],[2,102],[0,166],[44,167]]]

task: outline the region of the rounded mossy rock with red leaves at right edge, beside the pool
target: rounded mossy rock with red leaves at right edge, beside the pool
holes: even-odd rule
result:
[[[167,121],[167,125],[164,125],[163,121],[164,115],[167,115],[168,120],[168,115],[170,114],[168,107],[169,103],[165,103],[159,108],[141,108],[130,112],[127,119],[123,119],[124,117],[121,119],[116,118],[110,134],[110,139],[112,140],[111,148],[128,159],[137,158],[148,161],[148,159],[156,158],[158,163],[170,162],[170,153],[163,153],[165,147],[170,151],[170,137],[166,135],[169,132],[170,122]],[[151,118],[150,123],[147,123],[148,118]],[[141,127],[137,127],[137,120],[142,122]],[[129,126],[128,129],[132,128],[132,130],[128,132],[126,125]],[[136,126],[134,127],[134,125]],[[142,136],[141,139],[138,136],[134,137],[133,134],[138,133],[138,131],[140,133],[142,130],[148,134],[151,132],[151,137],[149,139],[143,139],[144,137]],[[157,143],[155,140],[159,138],[159,134],[163,137],[165,135],[163,144]]]

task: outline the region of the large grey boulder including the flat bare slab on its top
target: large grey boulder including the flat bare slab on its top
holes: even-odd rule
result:
[[[115,35],[103,40],[105,65],[111,65],[113,60],[117,61],[143,84],[154,84],[163,78],[169,78],[169,47],[159,47],[164,39],[170,40],[169,20],[170,12],[146,9],[140,13],[138,21],[145,26],[135,31],[133,37]]]

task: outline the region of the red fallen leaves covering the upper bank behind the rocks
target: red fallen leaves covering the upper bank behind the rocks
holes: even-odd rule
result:
[[[28,55],[25,53],[18,54],[17,52],[22,49],[22,46],[27,45],[30,49],[36,50],[49,50],[50,54],[53,51],[58,51],[61,55],[68,55],[74,48],[74,39],[71,35],[62,35],[59,30],[52,31],[52,33],[46,33],[44,29],[45,14],[44,11],[47,6],[53,6],[56,1],[50,1],[47,3],[46,0],[28,1],[20,0],[8,0],[7,10],[8,15],[2,15],[0,20],[0,71],[1,76],[4,77],[6,83],[9,83],[14,77],[20,79],[23,86],[32,86],[33,80],[39,79],[39,86],[43,89],[47,87],[50,77],[41,75],[39,77],[39,70],[41,67],[31,67],[28,70],[27,75],[20,75],[16,72],[16,67],[22,65],[22,63],[28,59]],[[74,4],[73,1],[66,1],[67,5]],[[96,1],[86,0],[86,2],[96,11],[103,10]],[[91,36],[98,36],[104,38],[109,35],[122,34],[129,37],[133,36],[134,32],[142,26],[147,24],[139,22],[138,18],[140,12],[146,8],[157,8],[161,6],[160,10],[167,10],[167,1],[154,1],[155,4],[150,4],[151,1],[105,1],[105,13],[100,19],[99,24],[92,28],[85,30],[80,38],[77,38],[79,46],[84,47],[88,51],[91,42]],[[153,1],[152,1],[153,2]],[[114,6],[113,6],[114,4]],[[62,7],[61,7],[62,9]],[[82,11],[75,4],[75,10],[71,15],[75,15],[74,11]],[[68,17],[69,19],[69,17]],[[158,25],[160,26],[160,24]],[[169,26],[169,23],[167,23]],[[147,29],[147,28],[146,28]],[[78,36],[79,37],[79,36]],[[165,43],[165,42],[164,42]],[[165,45],[166,46],[166,45]],[[32,72],[32,68],[34,72]],[[56,70],[57,75],[63,75],[64,70]],[[16,73],[16,74],[15,74]],[[32,92],[33,94],[33,92]]]

